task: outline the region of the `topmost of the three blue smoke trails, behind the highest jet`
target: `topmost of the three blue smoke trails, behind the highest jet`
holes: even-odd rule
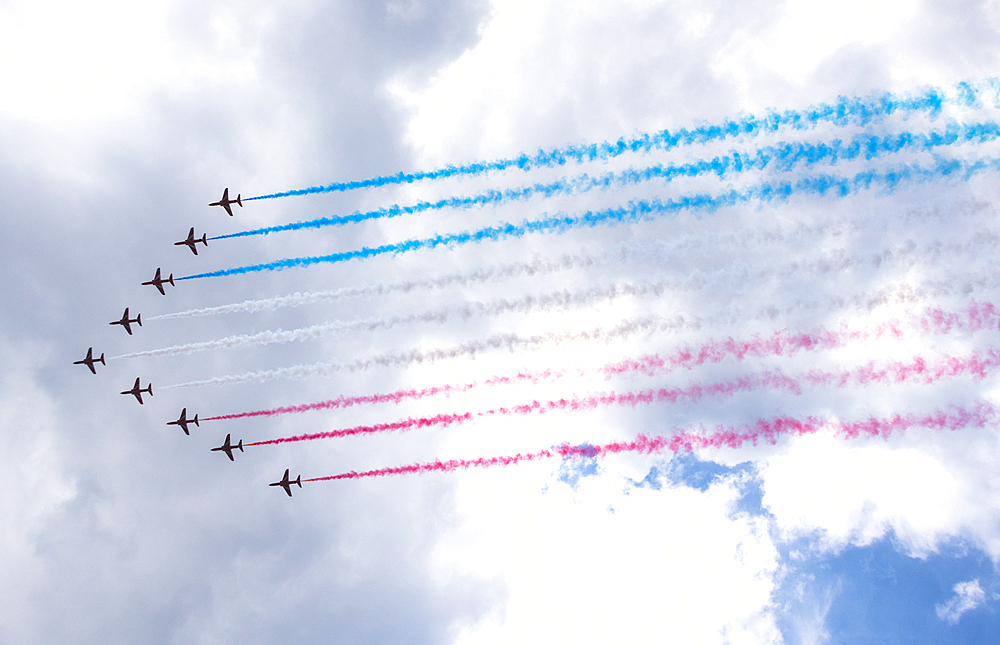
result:
[[[980,99],[984,94],[993,94],[994,103],[1000,100],[1000,83],[997,79],[987,79],[985,87],[963,81],[955,87],[955,96],[948,97],[939,88],[930,88],[917,96],[897,96],[891,92],[868,97],[839,97],[836,103],[820,103],[806,110],[785,110],[777,112],[769,110],[763,117],[749,115],[737,121],[725,120],[715,125],[704,125],[697,128],[681,128],[676,132],[662,130],[653,134],[644,133],[630,139],[624,137],[614,143],[603,141],[584,145],[570,145],[551,150],[539,150],[533,156],[520,154],[510,159],[498,159],[471,163],[464,166],[446,166],[437,170],[398,173],[364,179],[313,186],[280,193],[247,197],[244,201],[256,199],[275,199],[293,195],[309,195],[312,193],[329,193],[372,188],[390,184],[409,184],[426,179],[443,179],[459,175],[471,176],[488,172],[503,171],[509,168],[531,170],[539,167],[562,166],[567,163],[584,163],[589,161],[607,160],[627,152],[648,152],[653,149],[670,150],[679,146],[688,146],[711,141],[722,141],[729,137],[757,136],[761,133],[776,132],[783,127],[805,130],[819,123],[832,123],[846,126],[849,123],[867,125],[873,121],[896,113],[925,113],[936,118],[945,104],[977,108],[981,106]]]

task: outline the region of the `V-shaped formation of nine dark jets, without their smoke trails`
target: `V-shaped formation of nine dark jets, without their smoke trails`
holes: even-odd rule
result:
[[[241,201],[241,196],[239,194],[237,194],[236,195],[236,199],[229,199],[229,188],[226,188],[224,191],[222,191],[222,199],[220,199],[217,202],[212,202],[211,204],[209,204],[209,206],[221,206],[222,208],[224,208],[226,210],[227,213],[229,213],[229,216],[232,217],[232,215],[233,215],[233,209],[232,209],[232,206],[231,206],[232,204],[236,204],[240,208],[243,207],[243,202]],[[195,255],[198,255],[198,246],[197,245],[198,245],[199,242],[201,242],[203,245],[205,245],[207,247],[208,246],[208,234],[207,233],[203,233],[200,238],[195,237],[194,227],[192,226],[191,230],[188,231],[187,238],[184,239],[184,240],[181,240],[180,242],[174,242],[174,246],[187,246],[189,249],[191,249],[192,253],[194,253]],[[166,278],[164,278],[162,276],[162,270],[160,269],[160,267],[157,267],[157,269],[156,269],[156,275],[153,276],[152,280],[149,280],[147,282],[143,282],[142,283],[143,286],[149,285],[149,286],[156,287],[156,289],[160,292],[160,294],[164,295],[164,296],[167,295],[166,290],[164,290],[164,288],[163,288],[163,285],[165,285],[165,284],[169,284],[172,287],[176,286],[174,284],[174,274],[171,273]],[[121,325],[122,327],[125,328],[125,331],[128,332],[128,335],[131,336],[132,335],[132,324],[133,323],[135,323],[135,324],[139,325],[140,327],[142,327],[142,314],[136,314],[135,318],[130,318],[129,317],[129,308],[125,307],[125,313],[122,314],[121,319],[120,320],[113,320],[113,321],[111,321],[108,324],[109,325]],[[101,365],[107,366],[107,363],[104,362],[104,353],[101,353],[101,355],[98,358],[94,358],[94,348],[93,347],[89,347],[87,349],[87,356],[83,360],[73,361],[74,365],[86,365],[87,368],[90,369],[90,371],[93,374],[97,374],[97,369],[94,367],[95,364],[97,364],[97,363],[100,363]],[[142,400],[142,395],[143,394],[148,394],[149,396],[153,396],[153,384],[152,383],[147,383],[146,387],[142,387],[140,377],[136,377],[135,384],[132,386],[132,388],[129,389],[129,390],[122,391],[121,394],[134,396],[135,399],[136,399],[136,401],[138,401],[140,405],[144,405],[144,402]],[[195,414],[191,418],[188,418],[188,416],[187,416],[187,408],[183,408],[181,410],[181,414],[180,414],[179,417],[177,417],[177,420],[175,420],[175,421],[167,421],[167,425],[168,426],[178,426],[181,430],[184,431],[184,434],[188,435],[188,436],[190,436],[190,434],[191,434],[190,429],[188,428],[188,426],[190,424],[192,424],[192,423],[196,427],[201,427],[201,424],[198,421],[198,415],[197,414]],[[224,452],[224,453],[226,453],[226,456],[229,457],[230,461],[236,461],[236,459],[233,457],[233,451],[234,450],[239,450],[240,452],[244,452],[244,450],[243,450],[243,440],[240,439],[239,442],[237,442],[234,445],[232,443],[232,435],[231,434],[227,434],[226,435],[226,440],[225,440],[225,442],[223,442],[223,444],[221,446],[218,446],[216,448],[212,448],[211,449],[212,452]],[[285,492],[288,493],[288,496],[291,497],[292,496],[292,485],[293,484],[297,485],[299,488],[302,488],[302,475],[299,475],[294,480],[292,480],[292,479],[289,479],[288,471],[289,471],[289,469],[286,468],[285,469],[285,475],[284,475],[284,477],[281,478],[281,481],[277,481],[277,482],[274,482],[273,484],[269,484],[269,485],[270,486],[281,486],[282,488],[285,489]]]

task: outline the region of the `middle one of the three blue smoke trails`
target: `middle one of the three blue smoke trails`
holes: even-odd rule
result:
[[[549,184],[534,184],[524,188],[507,189],[503,191],[489,190],[478,195],[466,197],[449,197],[436,202],[418,202],[412,206],[393,204],[385,208],[356,212],[351,215],[322,217],[306,222],[294,222],[279,226],[268,226],[228,235],[217,235],[210,240],[224,240],[234,237],[251,235],[268,235],[281,231],[297,231],[302,229],[322,228],[325,226],[343,226],[375,219],[387,219],[401,215],[413,215],[443,208],[472,208],[500,204],[508,201],[530,199],[536,195],[551,197],[556,194],[573,194],[586,192],[595,188],[627,186],[653,179],[672,181],[677,177],[696,177],[705,174],[718,175],[725,179],[730,173],[764,170],[770,164],[777,171],[788,172],[800,162],[807,167],[825,163],[830,166],[840,161],[851,161],[863,157],[872,160],[886,154],[895,154],[903,150],[928,152],[943,146],[963,143],[986,143],[1000,138],[1000,124],[993,121],[968,125],[949,124],[942,130],[932,130],[927,133],[901,132],[898,134],[877,137],[873,135],[855,137],[850,143],[844,144],[839,139],[830,143],[779,143],[776,146],[758,148],[753,153],[732,151],[730,155],[713,158],[711,161],[698,160],[691,163],[666,167],[649,166],[641,170],[626,170],[620,173],[606,173],[599,177],[583,174],[570,179],[559,179]]]

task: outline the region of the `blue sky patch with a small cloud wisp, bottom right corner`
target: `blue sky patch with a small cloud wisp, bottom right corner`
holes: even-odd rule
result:
[[[1000,640],[1000,577],[978,549],[954,544],[921,560],[887,537],[796,562],[792,554],[808,553],[808,540],[779,548],[782,561],[793,567],[776,596],[784,608],[779,625],[786,643],[813,640],[827,604],[819,633],[825,632],[830,643],[985,645]],[[974,593],[963,597],[969,589]]]

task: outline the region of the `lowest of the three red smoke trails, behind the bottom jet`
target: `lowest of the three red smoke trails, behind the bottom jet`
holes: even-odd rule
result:
[[[933,428],[935,430],[960,430],[969,426],[982,428],[987,423],[996,419],[996,410],[988,404],[979,404],[973,410],[953,408],[952,411],[944,412],[936,410],[927,415],[899,415],[876,419],[870,417],[864,421],[822,421],[815,417],[805,419],[795,419],[791,417],[779,417],[772,420],[760,420],[743,428],[723,428],[717,426],[714,432],[704,434],[690,431],[683,431],[670,437],[647,437],[639,435],[632,441],[615,441],[599,446],[582,445],[571,446],[563,444],[551,450],[540,450],[527,454],[520,454],[509,457],[481,457],[479,459],[450,459],[448,461],[435,460],[422,464],[410,464],[407,466],[397,466],[394,468],[378,468],[376,470],[366,470],[362,472],[350,471],[329,477],[315,477],[303,481],[318,482],[332,479],[362,479],[365,477],[386,477],[388,475],[404,475],[427,472],[454,472],[457,470],[468,470],[469,468],[489,468],[490,466],[508,466],[521,461],[534,461],[547,457],[605,457],[609,454],[622,452],[635,452],[640,454],[656,454],[667,450],[679,452],[681,450],[691,451],[697,448],[740,448],[745,443],[764,440],[771,445],[778,441],[778,437],[783,434],[802,436],[814,434],[823,428],[830,428],[835,434],[842,435],[848,439],[857,438],[860,435],[870,437],[883,437],[888,439],[894,432],[904,432],[914,427]]]

